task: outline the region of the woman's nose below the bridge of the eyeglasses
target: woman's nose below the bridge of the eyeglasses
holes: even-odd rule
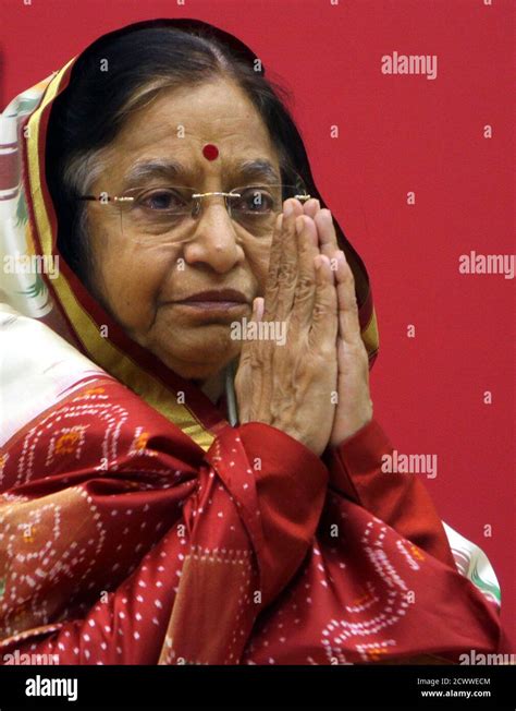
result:
[[[230,272],[244,260],[233,220],[223,202],[202,205],[195,234],[185,245],[184,257],[187,264],[201,262],[218,274]]]

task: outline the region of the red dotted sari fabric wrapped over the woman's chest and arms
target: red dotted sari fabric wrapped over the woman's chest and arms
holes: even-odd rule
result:
[[[372,421],[327,451],[329,469],[259,423],[226,425],[205,453],[90,379],[4,448],[2,654],[337,664],[496,650],[495,610],[456,571],[422,484],[380,471],[391,449]]]

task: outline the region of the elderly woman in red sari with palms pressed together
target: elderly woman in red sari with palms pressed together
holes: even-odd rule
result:
[[[4,112],[4,663],[499,648],[489,564],[479,590],[381,471],[367,273],[279,96],[234,37],[159,21]]]

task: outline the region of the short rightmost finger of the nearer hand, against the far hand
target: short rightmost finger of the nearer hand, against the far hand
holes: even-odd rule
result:
[[[311,328],[309,334],[310,347],[314,349],[335,352],[337,335],[337,300],[336,289],[333,285],[333,275],[330,260],[319,254],[314,260],[316,267],[316,294]]]

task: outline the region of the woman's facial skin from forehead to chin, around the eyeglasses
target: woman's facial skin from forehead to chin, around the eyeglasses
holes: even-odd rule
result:
[[[219,149],[216,159],[204,156],[206,144]],[[244,92],[223,79],[158,95],[130,116],[102,165],[96,195],[124,193],[135,186],[134,174],[137,186],[185,185],[202,193],[280,182],[266,125]],[[188,217],[183,227],[156,236],[134,222],[133,208],[121,217],[112,202],[88,204],[95,296],[134,340],[187,378],[207,378],[237,356],[241,342],[231,339],[231,323],[250,317],[253,299],[263,293],[272,238],[232,220],[220,196],[201,205],[196,220]],[[185,303],[228,289],[241,296]]]

